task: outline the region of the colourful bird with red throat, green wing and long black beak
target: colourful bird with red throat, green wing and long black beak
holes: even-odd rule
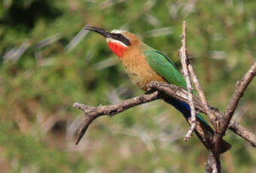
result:
[[[84,29],[105,37],[108,47],[118,56],[132,83],[145,92],[148,92],[148,83],[151,81],[187,87],[184,77],[172,59],[143,43],[133,33],[119,29],[108,32],[96,26],[84,26]],[[180,111],[187,121],[191,117],[190,106],[187,103],[172,97],[168,97],[164,101]],[[197,121],[200,121],[203,126],[203,130],[195,130],[200,140],[203,140],[202,135],[210,135],[210,138],[213,138],[214,130],[200,114],[197,114]],[[222,140],[220,152],[224,153],[230,147],[231,145],[227,141]]]

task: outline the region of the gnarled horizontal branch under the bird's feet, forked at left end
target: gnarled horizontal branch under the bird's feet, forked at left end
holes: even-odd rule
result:
[[[187,90],[185,90],[183,87],[178,87],[169,83],[160,83],[156,81],[152,81],[151,83],[148,84],[148,86],[152,90],[159,90],[161,94],[165,94],[166,96],[172,96],[173,98],[181,102],[186,102],[186,103],[188,102]],[[95,120],[97,117],[100,117],[102,115],[108,115],[108,114],[113,116],[122,111],[125,111],[128,108],[133,108],[136,105],[142,105],[143,103],[146,103],[146,102],[152,102],[156,99],[160,99],[160,94],[157,92],[154,92],[147,95],[136,96],[132,99],[124,100],[123,102],[119,102],[115,105],[101,106],[101,109],[90,107],[84,104],[74,103],[73,105],[74,108],[79,108],[82,111],[84,111],[84,114],[86,114],[86,116],[84,117],[84,122],[81,124],[81,127],[79,128],[79,132],[78,132],[79,140],[82,138],[87,128],[90,126],[90,123],[92,123],[93,120]],[[200,111],[203,114],[206,114],[206,110],[203,107],[203,103],[200,101],[200,99],[194,96],[193,101],[197,111]],[[105,110],[102,110],[102,108],[104,108]],[[108,110],[111,110],[111,111],[108,111]],[[215,111],[218,112],[217,109],[215,109]],[[229,129],[235,132],[237,135],[244,138],[252,146],[255,146],[256,136],[252,132],[250,132],[248,129],[241,126],[239,123],[231,120]],[[77,141],[77,144],[79,140]]]

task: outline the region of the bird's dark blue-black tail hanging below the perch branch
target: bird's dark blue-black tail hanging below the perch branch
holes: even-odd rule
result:
[[[181,112],[181,114],[183,114],[187,122],[190,122],[190,106],[187,105],[187,103],[180,102],[171,97],[164,99],[164,101],[174,106],[178,111]],[[200,116],[200,114],[197,114],[197,122],[199,123],[197,123],[197,128],[195,129],[195,132],[198,138],[200,138],[200,141],[204,141],[203,144],[205,144],[205,142],[207,143],[208,146],[206,146],[206,144],[205,146],[206,148],[208,148],[210,145],[212,145],[214,131],[212,127],[209,126],[208,123],[206,123],[206,120],[204,120],[203,117]],[[231,144],[227,143],[227,141],[224,140],[221,141],[221,153],[230,150],[230,148]]]

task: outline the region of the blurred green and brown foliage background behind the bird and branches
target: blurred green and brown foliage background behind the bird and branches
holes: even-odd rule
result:
[[[0,172],[204,172],[207,151],[162,101],[101,117],[75,145],[84,114],[73,102],[108,105],[142,94],[102,36],[84,25],[126,29],[180,67],[187,48],[212,106],[224,111],[236,80],[255,61],[256,3],[242,0],[2,0]],[[70,41],[78,35],[75,43]],[[65,51],[66,50],[66,51]],[[233,119],[256,132],[256,82]],[[253,172],[256,151],[227,131],[223,172]]]

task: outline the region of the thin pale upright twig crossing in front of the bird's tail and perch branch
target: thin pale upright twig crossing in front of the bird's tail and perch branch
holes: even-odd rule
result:
[[[181,35],[181,50],[179,51],[179,56],[181,58],[181,65],[182,65],[182,71],[184,78],[187,83],[187,94],[188,94],[188,105],[190,106],[190,112],[191,112],[191,124],[190,129],[187,131],[187,134],[185,135],[184,140],[187,141],[189,138],[192,137],[192,133],[194,132],[194,129],[197,126],[197,117],[196,117],[196,110],[194,108],[193,103],[193,89],[190,82],[190,74],[188,71],[187,65],[189,64],[189,60],[187,58],[187,47],[186,47],[186,22],[183,21],[183,29],[182,29],[182,35]]]

